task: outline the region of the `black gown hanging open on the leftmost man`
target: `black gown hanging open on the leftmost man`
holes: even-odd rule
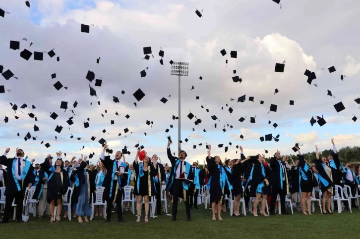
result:
[[[7,167],[7,174],[6,174],[6,189],[5,189],[5,196],[16,193],[18,191],[16,183],[14,181],[14,176],[12,174],[12,163],[17,158],[6,158],[6,156],[0,156],[0,164]],[[25,195],[26,188],[29,184],[35,183],[35,176],[34,176],[34,167],[30,165],[29,170],[22,181],[22,192]]]

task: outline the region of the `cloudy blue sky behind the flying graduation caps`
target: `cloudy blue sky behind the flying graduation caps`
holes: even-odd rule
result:
[[[189,74],[180,82],[181,149],[189,162],[202,163],[206,143],[222,159],[239,158],[236,145],[244,148],[245,155],[266,149],[270,157],[276,150],[294,153],[295,143],[303,144],[302,152],[314,151],[315,144],[320,150],[328,149],[332,137],[338,148],[360,144],[360,120],[352,120],[354,115],[360,117],[354,101],[360,97],[359,1],[281,0],[281,8],[272,0],[30,0],[30,5],[23,0],[0,2],[0,8],[9,12],[0,17],[0,65],[18,78],[6,81],[0,76],[5,88],[0,94],[0,118],[9,119],[0,122],[0,145],[3,150],[11,147],[11,155],[19,147],[41,163],[47,154],[56,155],[59,150],[66,152],[66,159],[94,152],[91,161],[95,163],[102,150],[98,141],[104,138],[114,151],[128,147],[127,162],[133,162],[137,143],[148,155],[157,154],[162,162],[169,162],[167,136],[172,137],[171,149],[177,153],[178,122],[172,116],[179,116],[178,77],[170,74],[170,60],[189,63]],[[203,17],[195,14],[196,9],[202,10]],[[90,25],[89,34],[80,31],[81,24]],[[20,49],[10,49],[10,41],[19,41]],[[152,48],[149,60],[143,59],[143,47]],[[26,61],[19,56],[24,48],[32,52],[54,49],[56,56],[44,53],[43,61],[33,56]],[[165,52],[164,65],[159,62],[160,49]],[[225,56],[222,49],[227,51]],[[237,58],[230,57],[232,50],[238,52]],[[274,72],[275,64],[284,61],[285,71]],[[331,66],[335,72],[329,72]],[[306,69],[317,77],[311,85],[306,83]],[[89,70],[95,79],[102,79],[101,87],[85,78]],[[140,77],[142,70],[146,77]],[[52,79],[54,73],[57,77]],[[234,83],[234,76],[242,82]],[[67,90],[57,91],[53,86],[57,81]],[[89,83],[97,97],[90,96]],[[145,93],[140,101],[132,96],[138,89]],[[335,98],[327,96],[328,90]],[[246,101],[237,102],[243,95]],[[168,99],[165,104],[162,97]],[[290,105],[290,100],[295,104]],[[65,112],[61,101],[68,102]],[[73,108],[75,101],[78,105]],[[340,101],[346,109],[337,113],[333,105]],[[15,112],[9,103],[19,109]],[[23,103],[28,107],[20,109]],[[278,105],[277,112],[268,113],[271,104]],[[56,120],[50,118],[52,112],[59,115]],[[194,124],[195,118],[186,117],[190,112],[202,120],[199,125]],[[212,120],[212,115],[220,121]],[[255,116],[256,123],[250,123]],[[311,127],[313,116],[323,116],[327,124]],[[74,124],[68,126],[70,117]],[[241,123],[240,117],[245,121]],[[146,120],[154,123],[152,127]],[[90,127],[85,129],[84,122]],[[278,127],[274,129],[273,123]],[[34,132],[34,124],[40,131]],[[60,134],[55,131],[57,125],[63,127]],[[125,134],[125,128],[132,134]],[[25,142],[28,132],[37,137],[35,141]],[[280,141],[260,142],[266,134],[279,134]],[[217,147],[221,143],[229,146],[227,152]]]

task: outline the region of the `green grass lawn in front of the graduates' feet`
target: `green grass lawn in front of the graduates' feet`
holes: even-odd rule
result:
[[[34,218],[27,223],[10,222],[0,225],[0,239],[101,239],[101,238],[133,238],[133,239],[175,239],[175,238],[244,238],[244,239],[359,239],[360,210],[353,208],[353,213],[344,211],[333,215],[320,214],[319,208],[312,216],[304,216],[301,212],[294,215],[230,217],[223,213],[223,221],[212,221],[210,209],[200,206],[199,210],[191,210],[191,222],[186,221],[185,208],[179,203],[178,221],[172,222],[171,216],[149,218],[148,223],[136,223],[136,217],[125,212],[125,223],[118,223],[116,214],[112,222],[105,223],[103,218],[96,217],[92,222],[79,224],[77,219],[71,221],[61,218],[60,223],[50,223],[50,218]]]

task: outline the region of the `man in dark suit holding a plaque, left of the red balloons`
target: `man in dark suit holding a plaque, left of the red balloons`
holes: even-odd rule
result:
[[[110,156],[105,157],[105,151],[108,147],[107,144],[104,144],[104,149],[101,152],[100,160],[104,164],[107,170],[107,177],[105,182],[105,190],[104,194],[106,195],[106,222],[110,222],[111,219],[111,207],[112,203],[116,203],[117,214],[118,214],[118,222],[124,222],[122,218],[122,208],[121,208],[121,200],[122,200],[122,189],[126,185],[124,180],[124,174],[120,173],[121,167],[124,168],[124,172],[128,171],[128,166],[121,162],[120,159],[122,157],[122,152],[117,151],[115,153],[115,159],[110,159]]]

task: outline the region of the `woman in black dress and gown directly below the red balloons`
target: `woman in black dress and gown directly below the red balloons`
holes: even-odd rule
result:
[[[142,198],[144,198],[144,206],[145,206],[145,220],[144,222],[148,222],[149,215],[149,196],[155,196],[155,185],[154,185],[154,177],[158,174],[157,165],[151,163],[150,157],[145,156],[143,163],[138,163],[138,155],[140,152],[140,148],[137,149],[135,161],[133,162],[133,167],[135,169],[137,180],[134,189],[134,194],[137,195],[136,201],[136,211],[137,211],[137,219],[136,222],[140,222],[141,216],[141,204]],[[150,185],[149,185],[150,184]]]

